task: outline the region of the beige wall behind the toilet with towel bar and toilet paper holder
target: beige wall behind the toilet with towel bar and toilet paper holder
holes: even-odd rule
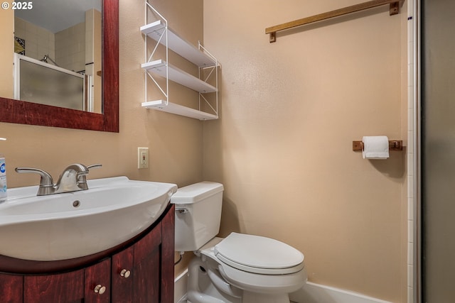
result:
[[[304,253],[311,282],[406,302],[405,153],[363,160],[352,150],[362,136],[406,135],[406,8],[272,44],[264,34],[360,2],[204,1],[205,47],[223,72],[221,119],[203,126],[203,172],[225,184],[223,236],[277,238]]]

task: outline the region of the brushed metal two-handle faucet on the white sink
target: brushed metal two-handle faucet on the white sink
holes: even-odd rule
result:
[[[38,187],[37,196],[45,196],[48,194],[60,194],[63,192],[76,192],[78,190],[86,190],[87,174],[90,168],[101,167],[101,164],[85,166],[82,164],[72,164],[63,170],[62,175],[54,184],[52,176],[44,170],[31,167],[16,167],[16,172],[32,172],[41,176],[40,185]]]

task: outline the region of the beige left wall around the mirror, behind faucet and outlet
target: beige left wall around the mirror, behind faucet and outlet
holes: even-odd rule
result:
[[[156,1],[166,18],[185,28],[183,37],[197,42],[203,38],[203,10],[202,1],[196,3],[179,4],[181,11],[173,11],[171,4],[175,1]],[[202,122],[141,108],[144,38],[139,27],[144,25],[144,3],[121,0],[119,4],[120,132],[0,123],[0,136],[8,138],[0,150],[6,156],[9,187],[39,181],[37,175],[18,175],[14,167],[38,167],[57,178],[73,162],[102,163],[101,169],[90,172],[90,178],[127,175],[135,180],[173,182],[179,186],[202,180]],[[11,57],[12,49],[11,46]],[[178,94],[183,89],[175,90]],[[138,147],[149,147],[149,169],[137,169]]]

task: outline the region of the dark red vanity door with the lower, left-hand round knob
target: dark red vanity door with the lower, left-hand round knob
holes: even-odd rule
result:
[[[111,259],[85,268],[84,303],[109,303],[111,293]]]

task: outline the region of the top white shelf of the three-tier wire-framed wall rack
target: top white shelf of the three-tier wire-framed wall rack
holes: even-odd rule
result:
[[[141,32],[144,33],[144,35],[148,35],[155,41],[159,41],[165,28],[166,25],[163,21],[158,20],[145,26],[141,26]],[[161,38],[160,43],[166,45],[166,39]],[[171,28],[168,28],[167,45],[169,49],[178,53],[178,55],[181,55],[186,60],[193,62],[195,65],[198,65],[198,67],[213,66],[217,64],[215,58],[203,53],[191,43],[188,43],[183,38],[180,38],[171,30]]]

